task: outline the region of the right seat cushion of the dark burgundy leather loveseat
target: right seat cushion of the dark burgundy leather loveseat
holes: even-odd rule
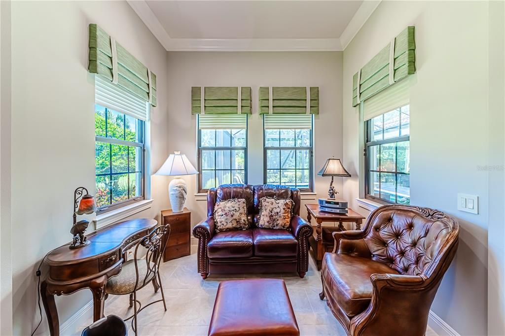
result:
[[[257,257],[295,257],[298,241],[287,230],[260,229],[252,230],[254,237],[254,255]]]

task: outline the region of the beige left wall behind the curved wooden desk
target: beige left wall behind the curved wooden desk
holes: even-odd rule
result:
[[[126,2],[12,3],[12,255],[14,334],[38,320],[35,270],[70,241],[73,191],[94,191],[94,75],[87,72],[88,24],[97,23],[158,75],[151,112],[151,165],[167,157],[166,51]],[[153,184],[154,217],[168,205]],[[60,322],[91,299],[58,297]],[[107,308],[106,308],[107,313]],[[113,313],[113,312],[109,312]],[[47,334],[47,323],[41,333]]]

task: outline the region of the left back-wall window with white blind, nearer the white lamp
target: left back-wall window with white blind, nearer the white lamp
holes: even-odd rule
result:
[[[247,183],[247,116],[198,116],[198,189]]]

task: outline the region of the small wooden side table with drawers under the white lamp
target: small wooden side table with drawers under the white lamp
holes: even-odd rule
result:
[[[170,237],[163,254],[163,262],[191,254],[191,211],[162,210],[162,225],[170,224]]]

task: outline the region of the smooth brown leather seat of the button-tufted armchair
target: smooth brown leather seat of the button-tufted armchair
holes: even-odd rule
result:
[[[351,317],[363,312],[370,304],[373,288],[370,275],[398,274],[381,262],[337,253],[324,255],[321,272],[328,289],[325,293],[331,295]]]

